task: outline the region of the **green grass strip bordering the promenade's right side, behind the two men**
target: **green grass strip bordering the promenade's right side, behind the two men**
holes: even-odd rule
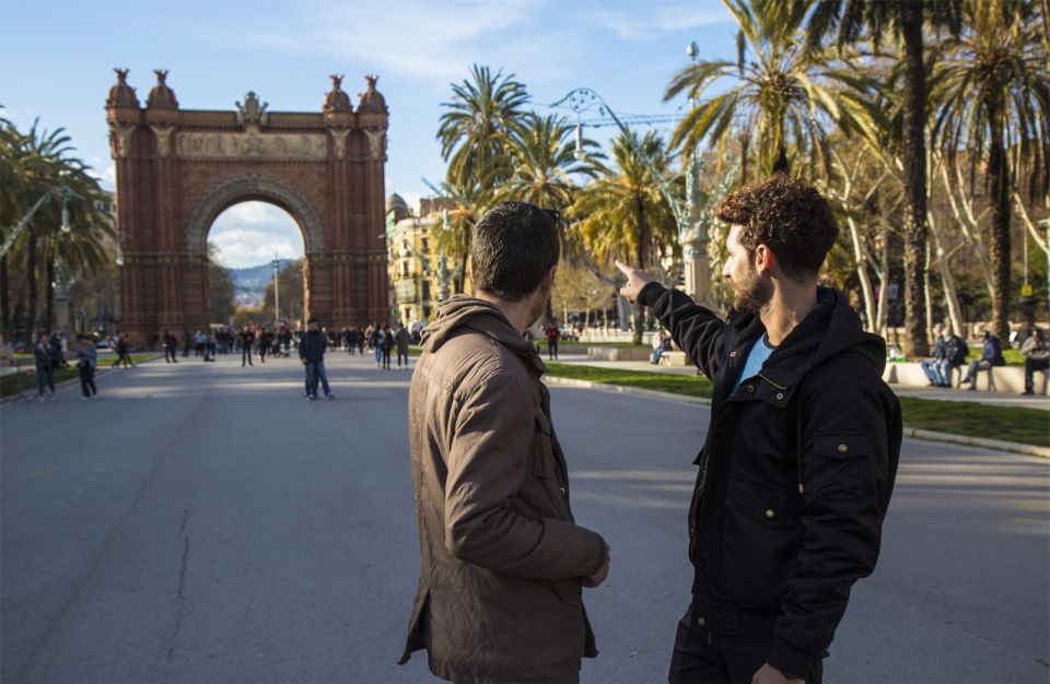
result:
[[[559,378],[711,398],[711,381],[704,377],[567,364],[547,364],[547,368]],[[912,397],[901,397],[900,406],[908,427],[1050,447],[1050,414],[1039,409]]]

